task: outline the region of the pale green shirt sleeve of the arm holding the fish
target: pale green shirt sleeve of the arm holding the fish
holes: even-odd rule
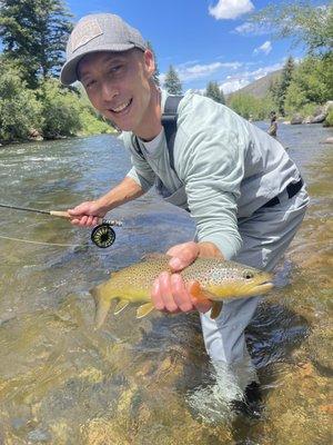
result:
[[[230,259],[242,246],[236,216],[244,175],[242,144],[236,134],[216,131],[215,126],[185,135],[183,140],[180,172],[196,239],[214,243],[224,258]]]

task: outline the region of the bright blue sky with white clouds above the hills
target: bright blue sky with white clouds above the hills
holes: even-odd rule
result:
[[[94,12],[112,12],[138,28],[155,51],[161,81],[172,65],[183,90],[216,81],[225,93],[280,69],[302,48],[289,40],[251,30],[246,17],[269,0],[67,0],[74,21]],[[290,1],[289,3],[291,3]],[[313,2],[325,4],[326,1]]]

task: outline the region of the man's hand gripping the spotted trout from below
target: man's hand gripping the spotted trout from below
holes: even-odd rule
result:
[[[212,301],[200,293],[198,281],[192,280],[185,285],[182,276],[176,274],[202,255],[200,244],[194,241],[179,244],[169,249],[167,255],[172,257],[169,266],[174,274],[163,271],[155,279],[151,294],[154,307],[158,310],[171,314],[191,310],[206,313],[210,310]]]

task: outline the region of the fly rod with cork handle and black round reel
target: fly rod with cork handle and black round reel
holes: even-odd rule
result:
[[[0,204],[0,207],[12,209],[12,210],[32,211],[34,214],[43,214],[43,215],[50,215],[50,216],[54,216],[54,217],[59,217],[59,218],[72,219],[72,216],[68,211],[40,210],[40,209],[30,208],[30,207],[12,206],[9,204]],[[98,226],[95,226],[91,233],[91,240],[93,241],[93,244],[95,244],[98,247],[101,247],[101,248],[110,247],[114,243],[114,239],[115,239],[115,233],[112,229],[112,226],[121,227],[122,222],[117,219],[99,218]]]

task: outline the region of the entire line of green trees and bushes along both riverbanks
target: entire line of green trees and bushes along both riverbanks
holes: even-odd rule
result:
[[[272,109],[280,116],[294,111],[306,115],[333,98],[332,7],[313,8],[304,2],[274,6],[250,20],[269,26],[278,38],[292,37],[301,42],[306,58],[296,63],[290,57],[263,99],[244,93],[225,98],[218,81],[210,81],[196,92],[226,102],[248,119],[264,119]],[[81,87],[62,87],[57,78],[72,27],[72,14],[63,0],[0,1],[1,142],[36,135],[57,138],[113,130],[93,110]],[[150,42],[148,47],[153,51]],[[158,63],[154,81],[160,85]],[[172,66],[163,87],[170,93],[183,92]],[[333,123],[332,111],[327,121]]]

